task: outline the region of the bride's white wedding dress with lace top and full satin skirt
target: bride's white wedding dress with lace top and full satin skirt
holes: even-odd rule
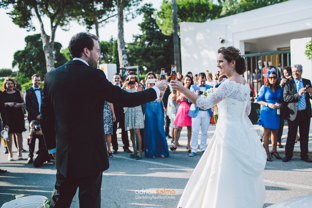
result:
[[[266,152],[248,115],[248,84],[226,80],[196,105],[216,105],[219,118],[212,140],[186,185],[178,207],[262,208]]]

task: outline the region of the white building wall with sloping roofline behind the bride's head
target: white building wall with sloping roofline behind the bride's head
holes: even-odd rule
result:
[[[290,0],[210,22],[182,22],[182,74],[198,74],[206,69],[215,73],[217,49],[221,46],[235,46],[242,54],[248,50],[265,52],[287,47],[294,38],[311,37],[311,11],[312,0]],[[220,37],[226,40],[224,44],[219,42]]]

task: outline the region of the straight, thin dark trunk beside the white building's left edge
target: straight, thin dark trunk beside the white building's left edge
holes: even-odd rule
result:
[[[178,39],[177,3],[176,3],[176,0],[172,0],[172,20],[173,20],[174,65],[175,65],[176,71],[177,72],[178,71],[181,72],[179,39]]]

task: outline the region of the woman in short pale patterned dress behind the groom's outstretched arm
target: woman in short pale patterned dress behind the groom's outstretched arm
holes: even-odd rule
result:
[[[129,85],[130,81],[134,81],[135,84]],[[143,86],[139,84],[138,79],[134,73],[130,73],[124,82],[121,89],[127,92],[139,92],[143,90]],[[142,157],[142,137],[140,129],[144,128],[144,118],[141,106],[134,108],[124,108],[124,126],[130,131],[130,139],[132,142],[133,153],[130,155],[131,158],[140,160]],[[135,146],[135,137],[138,142],[138,150]]]

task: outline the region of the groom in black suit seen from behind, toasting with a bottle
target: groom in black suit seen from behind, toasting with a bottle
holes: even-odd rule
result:
[[[139,106],[159,98],[169,84],[162,80],[154,88],[135,93],[112,85],[96,68],[100,58],[98,40],[87,32],[74,35],[68,46],[73,60],[45,76],[39,121],[57,169],[50,207],[70,207],[78,187],[80,208],[100,207],[102,172],[109,168],[105,101],[130,108]]]

